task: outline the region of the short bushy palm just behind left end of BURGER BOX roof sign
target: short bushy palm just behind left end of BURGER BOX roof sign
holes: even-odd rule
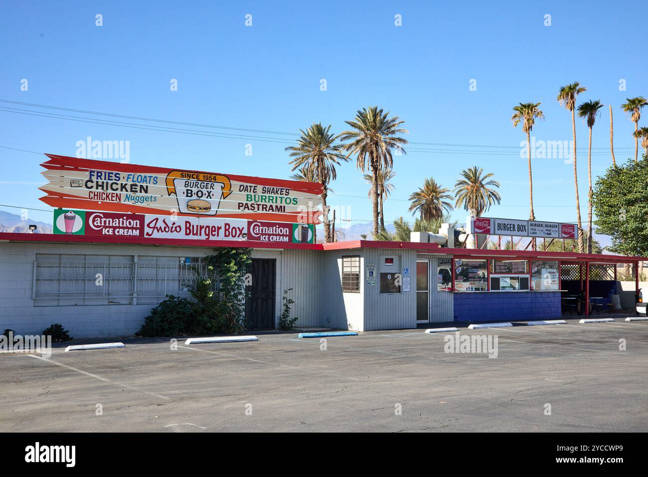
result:
[[[454,184],[455,208],[463,206],[473,217],[479,217],[489,210],[492,204],[499,204],[502,200],[500,193],[494,188],[500,183],[491,179],[492,173],[483,175],[483,168],[474,165],[461,171],[461,177]],[[470,234],[467,247],[474,248],[474,238]]]

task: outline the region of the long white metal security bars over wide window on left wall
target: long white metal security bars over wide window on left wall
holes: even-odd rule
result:
[[[84,258],[75,256],[75,258]],[[204,263],[180,257],[139,257],[128,262],[37,260],[32,298],[35,306],[156,304],[167,295],[191,296]],[[200,259],[198,259],[200,260]]]

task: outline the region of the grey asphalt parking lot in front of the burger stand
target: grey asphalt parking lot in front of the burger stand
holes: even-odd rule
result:
[[[460,333],[498,356],[423,330],[0,356],[0,432],[648,430],[648,322]]]

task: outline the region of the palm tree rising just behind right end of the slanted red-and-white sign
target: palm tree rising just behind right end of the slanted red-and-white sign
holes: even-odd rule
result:
[[[348,158],[341,153],[341,145],[334,144],[338,136],[330,132],[330,125],[323,127],[321,123],[313,123],[306,131],[299,130],[301,136],[296,146],[286,147],[293,159],[288,163],[292,164],[292,170],[299,168],[299,172],[305,178],[312,178],[314,182],[322,184],[322,211],[324,215],[324,240],[331,241],[329,224],[329,207],[327,206],[328,186],[331,180],[337,175],[335,166],[340,165],[340,160],[347,161]]]

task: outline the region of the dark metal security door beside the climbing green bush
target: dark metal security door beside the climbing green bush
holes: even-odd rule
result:
[[[277,260],[253,258],[252,284],[246,300],[246,328],[248,330],[273,330],[275,328],[275,278]]]

